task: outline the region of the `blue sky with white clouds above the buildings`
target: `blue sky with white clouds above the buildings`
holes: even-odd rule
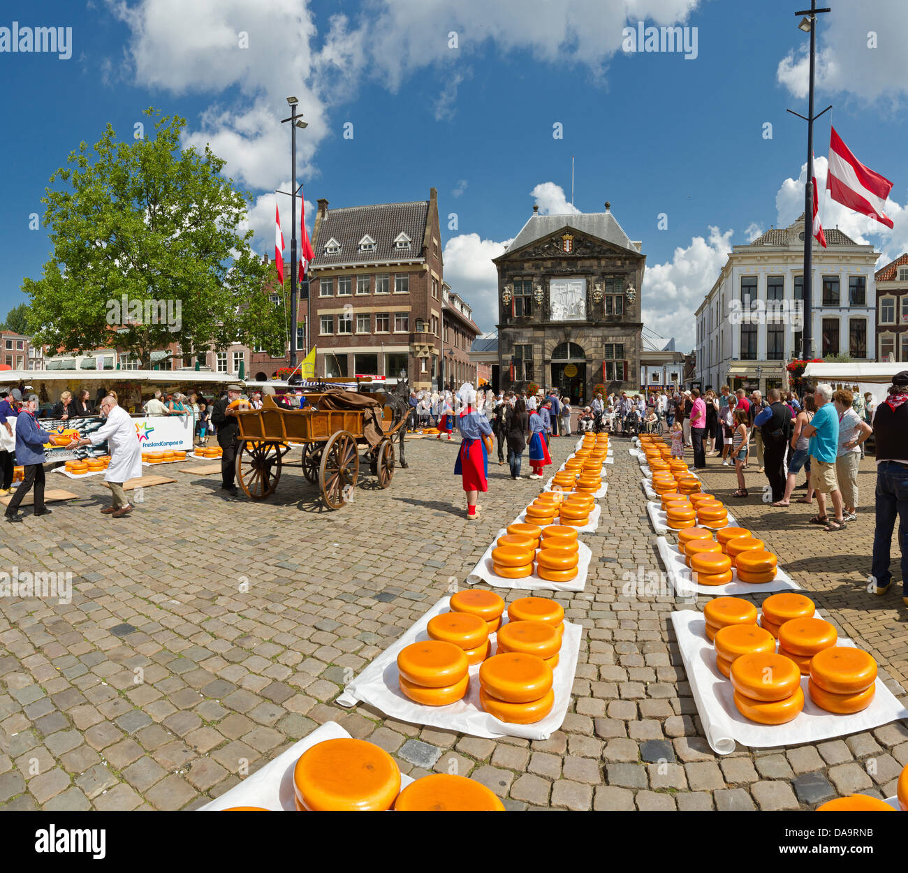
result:
[[[908,8],[831,0],[819,30],[815,132],[824,183],[832,121],[859,160],[894,182],[893,231],[825,201],[824,224],[908,249]],[[643,240],[648,327],[689,350],[693,310],[731,244],[801,211],[806,150],[803,49],[794,3],[769,0],[91,0],[4,5],[0,27],[72,27],[72,58],[0,53],[6,180],[0,312],[49,253],[33,212],[55,169],[110,122],[123,137],[148,105],[187,118],[252,192],[256,248],[273,252],[274,188],[290,178],[284,97],[301,100],[298,172],[306,201],[425,199],[439,190],[445,277],[494,327],[490,258],[534,201],[569,211],[604,201]],[[628,54],[622,28],[696,27],[696,59]],[[449,34],[457,34],[451,47]],[[869,47],[877,34],[875,47]],[[241,47],[242,34],[248,47]],[[352,139],[343,125],[352,123]],[[553,125],[563,138],[553,138]],[[772,138],[764,135],[772,124]],[[787,183],[786,183],[787,182]],[[535,191],[535,196],[532,192]],[[289,240],[289,208],[281,203]],[[448,230],[449,213],[456,230]],[[660,213],[667,229],[657,230]]]

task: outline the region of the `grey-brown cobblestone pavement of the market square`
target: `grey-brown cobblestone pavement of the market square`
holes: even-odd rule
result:
[[[557,463],[573,445],[552,440]],[[287,468],[259,504],[223,498],[217,476],[174,473],[117,520],[98,513],[100,477],[51,476],[81,499],[7,530],[2,560],[71,571],[73,602],[0,600],[0,807],[193,809],[236,784],[244,762],[256,770],[324,721],[389,750],[413,777],[456,760],[513,809],[808,809],[854,790],[893,794],[908,763],[902,724],[799,748],[709,750],[668,621],[674,599],[621,593],[624,574],[660,567],[637,463],[626,440],[614,445],[599,529],[585,536],[587,590],[558,595],[586,632],[570,711],[548,741],[482,740],[332,703],[345,672],[394,642],[449,577],[463,581],[538,482],[512,482],[493,461],[481,520],[468,523],[450,473],[457,444],[425,439],[408,442],[410,469],[389,489],[367,477],[337,513]],[[705,478],[722,495],[734,474]],[[861,480],[869,499],[872,478]],[[808,529],[799,508],[756,497],[735,507],[903,680],[899,597],[862,590],[869,516],[835,536]]]

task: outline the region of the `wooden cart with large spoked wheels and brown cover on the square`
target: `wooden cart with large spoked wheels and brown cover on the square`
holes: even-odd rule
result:
[[[279,407],[271,395],[265,395],[261,409],[237,412],[240,436],[236,478],[252,500],[274,493],[281,479],[283,458],[292,445],[302,446],[303,476],[313,485],[318,483],[321,499],[329,509],[340,509],[350,502],[360,476],[360,448],[361,460],[369,464],[370,473],[381,488],[390,486],[394,476],[397,437],[400,466],[406,468],[406,383],[400,383],[392,394],[324,390],[307,392],[305,396],[309,405],[302,409]],[[342,408],[348,404],[350,408]]]

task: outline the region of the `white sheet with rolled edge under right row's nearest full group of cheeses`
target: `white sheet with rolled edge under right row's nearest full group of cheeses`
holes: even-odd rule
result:
[[[787,724],[757,724],[745,719],[737,710],[733,699],[735,689],[716,667],[716,649],[706,639],[703,613],[690,609],[678,610],[671,613],[671,619],[706,741],[718,755],[733,752],[735,741],[751,749],[799,746],[807,742],[870,731],[881,724],[908,717],[908,710],[879,679],[876,680],[873,703],[867,709],[853,715],[837,715],[821,710],[810,699],[807,692],[808,677],[802,676],[804,711]],[[843,637],[839,638],[837,644],[854,645]]]

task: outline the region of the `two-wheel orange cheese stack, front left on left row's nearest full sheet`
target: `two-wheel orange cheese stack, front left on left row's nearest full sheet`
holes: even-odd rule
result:
[[[398,654],[400,691],[424,706],[447,706],[469,688],[469,660],[453,642],[412,642]]]

